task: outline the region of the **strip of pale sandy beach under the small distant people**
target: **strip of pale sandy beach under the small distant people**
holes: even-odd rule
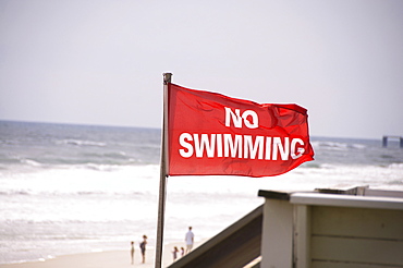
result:
[[[200,245],[202,242],[195,243],[195,248]],[[185,247],[184,242],[167,244],[163,248],[162,254],[162,267],[168,267],[173,261],[172,251],[173,247],[181,246]],[[136,249],[134,254],[134,264],[131,264],[130,248],[127,251],[114,251],[114,252],[97,252],[97,253],[83,253],[74,255],[58,256],[52,259],[45,261],[33,261],[23,264],[9,264],[0,265],[4,268],[130,268],[130,267],[142,267],[142,268],[154,268],[155,251],[154,248],[147,248],[146,251],[146,263],[142,264],[142,256],[139,249]]]

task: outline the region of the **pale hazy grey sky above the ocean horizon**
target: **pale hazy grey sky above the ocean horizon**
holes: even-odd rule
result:
[[[403,136],[401,0],[0,0],[0,120],[161,127],[172,83]]]

